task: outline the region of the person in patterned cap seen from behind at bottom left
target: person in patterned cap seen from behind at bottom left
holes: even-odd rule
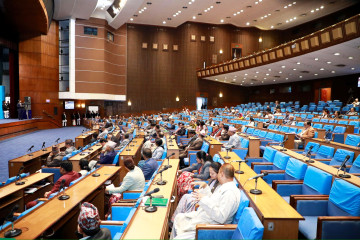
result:
[[[81,239],[105,239],[111,240],[111,232],[107,228],[100,228],[100,216],[97,208],[91,203],[84,202],[81,205],[78,217],[78,234]]]

